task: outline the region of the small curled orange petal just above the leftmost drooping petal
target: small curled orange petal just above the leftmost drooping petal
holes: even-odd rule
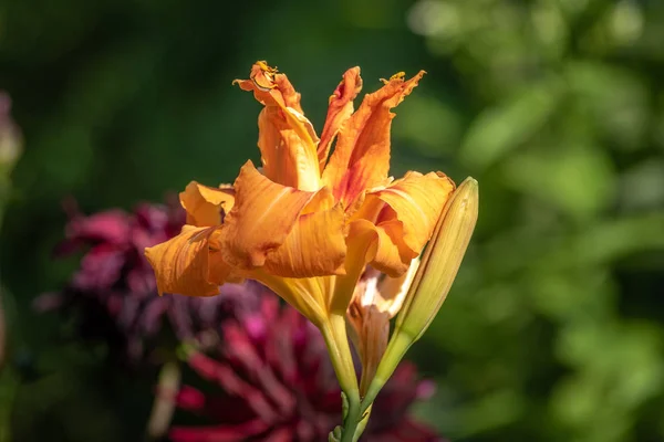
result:
[[[232,209],[235,191],[232,187],[214,188],[189,182],[180,192],[180,203],[187,211],[187,224],[205,227],[219,225],[224,215]]]

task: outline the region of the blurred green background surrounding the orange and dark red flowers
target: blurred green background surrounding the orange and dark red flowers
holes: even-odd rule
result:
[[[151,385],[31,311],[75,265],[51,259],[61,201],[232,181],[258,160],[259,105],[231,81],[266,59],[318,128],[345,69],[365,91],[428,71],[396,109],[393,175],[480,182],[471,249],[409,354],[438,382],[422,419],[454,441],[664,440],[663,42],[660,0],[2,1],[0,88],[25,145],[0,236],[23,372],[6,371],[21,380],[0,417],[30,441],[142,428]]]

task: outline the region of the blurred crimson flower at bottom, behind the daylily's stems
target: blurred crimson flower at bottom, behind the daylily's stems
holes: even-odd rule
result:
[[[211,423],[173,427],[174,442],[318,442],[341,422],[341,391],[320,332],[273,294],[261,296],[259,305],[222,324],[218,355],[188,352],[194,371],[220,388],[180,389],[177,406]],[[407,414],[433,387],[403,364],[376,399],[362,440],[440,441]]]

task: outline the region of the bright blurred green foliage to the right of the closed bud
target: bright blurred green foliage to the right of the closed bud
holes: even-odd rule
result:
[[[478,109],[450,155],[480,182],[479,238],[428,335],[453,439],[664,436],[662,19],[629,0],[409,12]]]

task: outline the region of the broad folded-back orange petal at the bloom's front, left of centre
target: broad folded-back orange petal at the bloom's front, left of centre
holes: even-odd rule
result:
[[[224,220],[220,238],[224,260],[246,270],[262,266],[317,193],[272,182],[251,161],[242,166],[234,187],[235,206]]]

